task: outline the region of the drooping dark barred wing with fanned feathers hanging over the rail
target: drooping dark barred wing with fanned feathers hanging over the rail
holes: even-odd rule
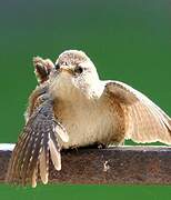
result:
[[[57,170],[61,169],[58,136],[67,142],[66,129],[54,119],[53,102],[43,94],[44,101],[29,117],[22,134],[12,152],[7,182],[37,186],[38,172],[43,183],[48,182],[49,159]],[[42,100],[41,99],[41,100]]]

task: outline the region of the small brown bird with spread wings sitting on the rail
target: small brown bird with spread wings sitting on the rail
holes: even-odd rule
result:
[[[48,182],[49,159],[61,169],[61,149],[90,144],[171,143],[171,120],[144,94],[119,81],[101,81],[89,57],[61,53],[56,66],[34,58],[39,86],[29,98],[26,126],[13,150],[7,181]]]

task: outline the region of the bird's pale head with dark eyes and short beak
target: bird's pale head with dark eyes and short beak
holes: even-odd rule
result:
[[[99,76],[89,57],[78,50],[62,52],[56,61],[57,73],[52,76],[52,88],[59,94],[79,90],[86,96],[95,96]]]

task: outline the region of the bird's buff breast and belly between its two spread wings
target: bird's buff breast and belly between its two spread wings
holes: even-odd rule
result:
[[[110,143],[117,131],[118,119],[111,113],[108,104],[100,100],[78,99],[54,103],[56,118],[63,124],[69,134],[69,142],[63,148],[83,147],[92,143]]]

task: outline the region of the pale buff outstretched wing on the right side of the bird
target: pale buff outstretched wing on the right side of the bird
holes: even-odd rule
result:
[[[107,81],[104,91],[123,108],[125,139],[171,144],[171,119],[148,97],[119,81]]]

